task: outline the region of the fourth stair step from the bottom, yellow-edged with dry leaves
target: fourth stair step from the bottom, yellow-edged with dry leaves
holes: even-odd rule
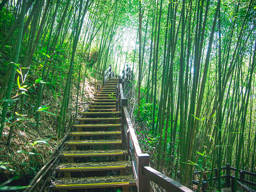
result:
[[[122,140],[73,140],[69,142],[65,142],[64,145],[121,145]]]

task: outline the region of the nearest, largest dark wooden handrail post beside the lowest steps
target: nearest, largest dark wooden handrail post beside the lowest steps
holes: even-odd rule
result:
[[[139,153],[137,155],[138,192],[148,192],[150,191],[150,182],[149,179],[142,174],[142,166],[149,166],[149,155],[147,153]]]

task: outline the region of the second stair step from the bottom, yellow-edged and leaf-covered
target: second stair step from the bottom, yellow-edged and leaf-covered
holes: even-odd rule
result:
[[[122,170],[132,169],[130,161],[116,161],[116,162],[88,162],[88,163],[69,163],[60,164],[56,172],[76,172],[76,171],[104,171],[104,170]]]

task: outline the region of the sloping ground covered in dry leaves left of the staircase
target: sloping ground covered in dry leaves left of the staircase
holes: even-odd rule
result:
[[[0,76],[2,75],[3,74],[0,74]],[[76,87],[77,86],[73,85],[71,105],[69,105],[67,110],[67,122],[70,115],[74,116],[76,112]],[[78,96],[78,103],[82,102],[82,89],[83,83],[79,86],[80,95]],[[38,88],[36,87],[33,94],[37,94],[37,92]],[[47,111],[52,114],[57,114],[58,109],[60,109],[62,101],[61,93],[63,90],[60,88],[59,92],[60,94],[56,95],[56,92],[54,94],[50,89],[48,98],[42,103],[42,105],[51,107],[47,109]],[[94,79],[87,77],[84,81],[83,104],[78,104],[78,111],[87,108],[93,99],[94,93]],[[33,111],[33,106],[36,104],[35,102],[35,100],[27,100],[27,104],[31,106],[31,111]],[[56,134],[57,116],[52,114],[40,112],[38,129],[36,129],[35,113],[27,114],[28,116],[26,116],[22,122],[15,125],[9,146],[6,145],[6,142],[10,130],[8,125],[10,125],[11,122],[6,122],[0,143],[0,167],[2,168],[0,169],[0,178],[2,178],[2,181],[17,177],[20,179],[16,180],[14,185],[26,185],[52,156],[52,153],[61,142],[61,140],[57,140]],[[12,185],[12,183],[10,185]]]

